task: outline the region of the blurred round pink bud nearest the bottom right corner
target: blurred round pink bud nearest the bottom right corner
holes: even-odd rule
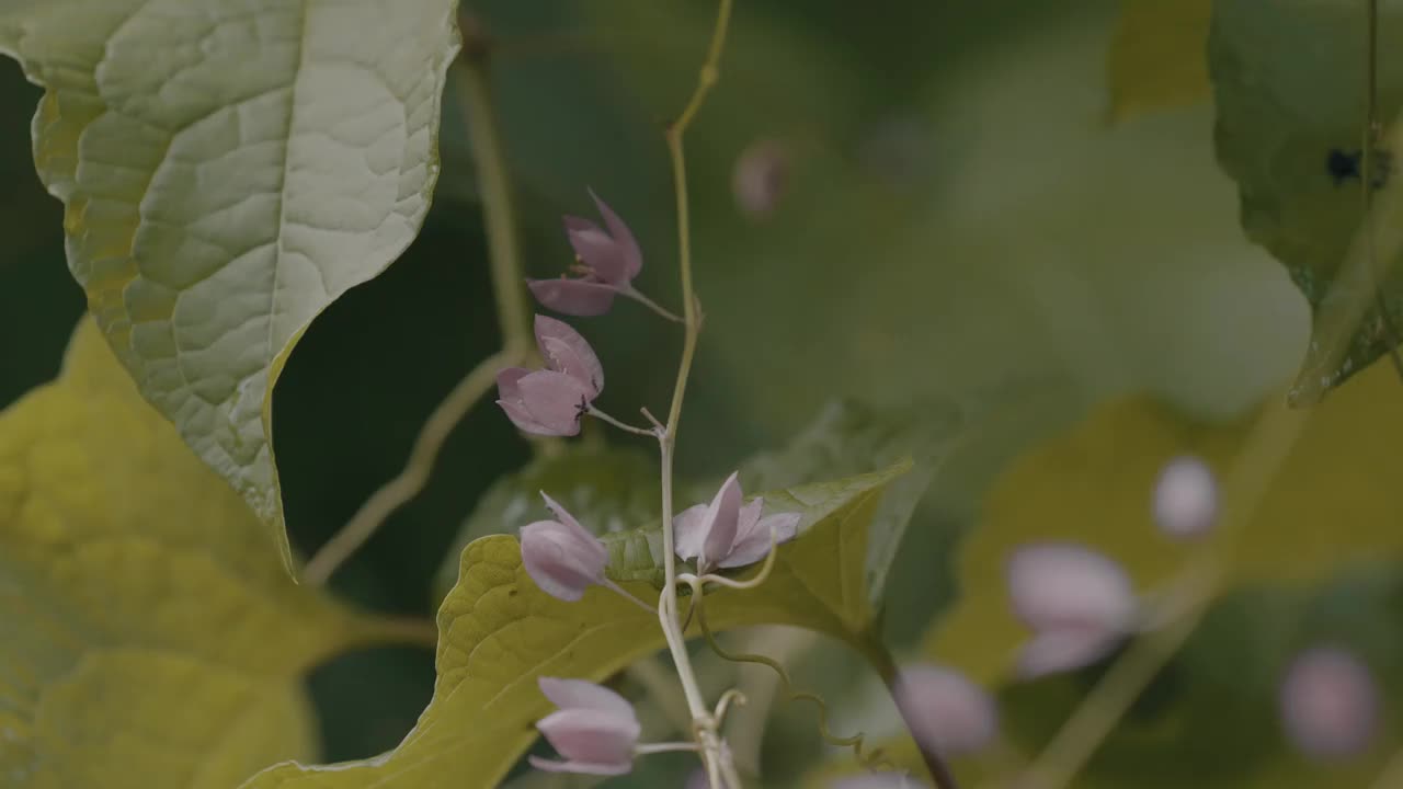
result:
[[[1343,760],[1365,751],[1378,730],[1379,692],[1369,668],[1340,647],[1313,647],[1281,684],[1281,724],[1303,754]]]

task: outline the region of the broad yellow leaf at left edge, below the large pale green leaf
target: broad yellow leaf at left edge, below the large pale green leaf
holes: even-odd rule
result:
[[[300,675],[376,628],[288,578],[91,320],[0,414],[0,783],[217,789],[314,755]]]

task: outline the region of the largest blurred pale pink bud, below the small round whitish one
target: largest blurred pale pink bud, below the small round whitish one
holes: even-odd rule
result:
[[[1070,543],[1020,548],[1009,560],[1013,609],[1034,630],[1019,657],[1026,678],[1106,656],[1135,630],[1139,604],[1120,564]]]

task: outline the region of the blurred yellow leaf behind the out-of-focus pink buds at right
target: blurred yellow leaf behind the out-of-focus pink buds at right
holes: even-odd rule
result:
[[[1097,410],[1020,458],[960,549],[960,599],[933,632],[927,654],[991,687],[1005,678],[1027,637],[1009,604],[1005,562],[1028,541],[1076,541],[1101,550],[1142,591],[1166,581],[1188,548],[1150,519],[1159,469],[1193,452],[1223,473],[1247,423],[1250,416],[1239,424],[1197,424],[1138,397]],[[1403,396],[1386,365],[1317,406],[1232,555],[1233,583],[1316,581],[1351,562],[1403,549],[1399,435]]]

